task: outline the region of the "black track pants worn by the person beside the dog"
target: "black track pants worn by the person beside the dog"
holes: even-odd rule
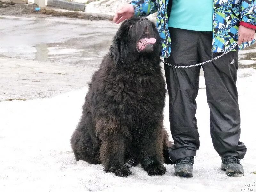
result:
[[[173,65],[193,65],[212,58],[212,32],[169,28]],[[213,57],[221,53],[213,54]],[[196,96],[200,68],[204,70],[207,102],[210,108],[210,129],[214,149],[220,156],[233,155],[242,159],[246,153],[240,138],[240,112],[236,88],[238,51],[203,66],[173,68],[164,65],[169,93],[170,127],[174,145],[169,156],[172,161],[195,156],[199,149],[196,124]]]

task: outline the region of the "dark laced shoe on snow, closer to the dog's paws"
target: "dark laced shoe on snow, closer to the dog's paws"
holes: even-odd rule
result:
[[[178,159],[174,166],[174,175],[179,177],[193,177],[194,157]]]

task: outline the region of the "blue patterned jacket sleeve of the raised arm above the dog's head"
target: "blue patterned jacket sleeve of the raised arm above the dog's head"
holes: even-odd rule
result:
[[[158,0],[132,0],[130,4],[134,7],[135,16],[148,16],[158,9]]]

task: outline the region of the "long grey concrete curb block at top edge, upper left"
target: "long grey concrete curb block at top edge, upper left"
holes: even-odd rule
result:
[[[83,3],[69,2],[64,0],[48,0],[47,5],[74,11],[85,11],[85,4]]]

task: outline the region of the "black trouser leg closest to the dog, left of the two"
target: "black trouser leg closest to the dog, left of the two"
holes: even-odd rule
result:
[[[169,28],[172,40],[171,56],[166,59],[173,65],[198,63],[198,32]],[[170,128],[174,145],[169,150],[175,162],[195,156],[199,148],[196,124],[196,96],[199,87],[200,67],[173,68],[164,65],[169,94]]]

